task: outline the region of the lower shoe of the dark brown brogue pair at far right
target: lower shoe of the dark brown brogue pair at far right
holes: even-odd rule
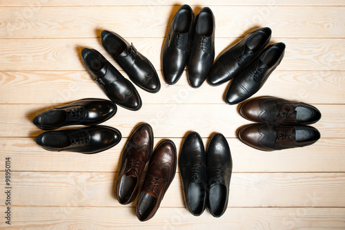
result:
[[[239,140],[262,151],[308,146],[319,138],[319,131],[312,126],[250,124],[239,131]]]

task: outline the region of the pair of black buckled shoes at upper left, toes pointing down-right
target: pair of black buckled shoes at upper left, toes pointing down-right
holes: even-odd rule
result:
[[[129,44],[123,37],[108,30],[101,32],[101,44],[132,82],[149,93],[159,91],[161,84],[154,66],[137,51],[133,44]],[[83,48],[81,57],[92,79],[112,102],[132,111],[138,111],[141,108],[141,97],[135,86],[121,75],[119,70],[112,66],[100,52]]]

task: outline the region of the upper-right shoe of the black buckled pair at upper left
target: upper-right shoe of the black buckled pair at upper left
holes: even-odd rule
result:
[[[101,32],[101,43],[132,82],[149,93],[159,91],[161,84],[155,68],[133,44],[129,44],[123,37],[108,30]]]

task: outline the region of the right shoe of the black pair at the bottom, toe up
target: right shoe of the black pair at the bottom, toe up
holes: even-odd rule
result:
[[[224,135],[216,133],[210,139],[206,153],[208,181],[208,211],[220,217],[228,207],[233,160]]]

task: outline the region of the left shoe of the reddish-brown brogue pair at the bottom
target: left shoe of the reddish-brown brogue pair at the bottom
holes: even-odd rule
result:
[[[116,194],[120,204],[129,204],[137,196],[139,182],[153,148],[153,132],[149,124],[141,124],[130,135],[122,153]]]

